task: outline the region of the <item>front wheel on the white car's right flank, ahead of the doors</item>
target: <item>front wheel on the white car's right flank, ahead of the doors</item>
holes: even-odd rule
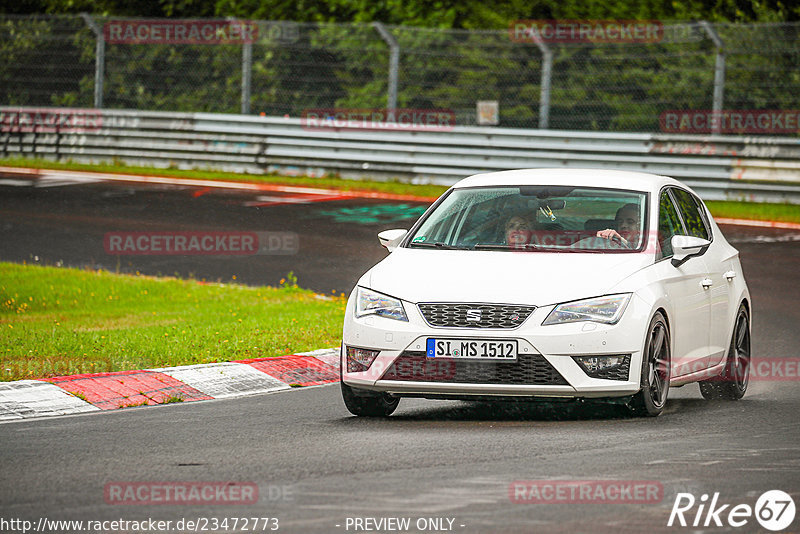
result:
[[[642,389],[633,396],[629,404],[634,414],[655,417],[663,411],[669,395],[671,355],[667,320],[661,312],[656,312],[650,320],[642,353],[639,381]]]

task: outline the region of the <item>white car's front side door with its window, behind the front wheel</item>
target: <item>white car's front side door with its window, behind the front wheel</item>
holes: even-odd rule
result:
[[[704,289],[708,272],[702,256],[690,258],[679,266],[672,265],[673,235],[691,235],[679,215],[670,189],[661,193],[659,201],[659,245],[661,258],[656,263],[664,289],[672,303],[668,317],[672,333],[672,374],[681,376],[704,369],[708,362],[708,330],[711,323],[709,292]]]

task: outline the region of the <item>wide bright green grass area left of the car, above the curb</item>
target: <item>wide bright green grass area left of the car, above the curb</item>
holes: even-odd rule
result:
[[[0,262],[2,380],[336,347],[345,299],[300,289]],[[173,402],[178,402],[174,400]]]

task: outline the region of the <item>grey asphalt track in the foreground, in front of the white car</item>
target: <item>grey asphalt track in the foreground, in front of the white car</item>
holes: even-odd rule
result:
[[[796,384],[739,403],[673,391],[658,419],[590,409],[405,399],[390,419],[345,411],[336,385],[196,405],[0,426],[5,517],[278,517],[284,532],[345,532],[347,517],[450,517],[458,532],[669,531],[677,492],[749,503],[798,497]],[[651,480],[657,504],[515,504],[516,480]],[[252,506],[120,506],[121,481],[258,484]],[[270,488],[288,498],[270,500]],[[749,528],[744,532],[754,532]],[[715,530],[716,531],[716,530]],[[724,531],[719,529],[719,531]]]

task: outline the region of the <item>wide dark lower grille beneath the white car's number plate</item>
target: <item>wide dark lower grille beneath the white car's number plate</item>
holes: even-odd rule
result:
[[[509,362],[433,359],[427,358],[424,352],[406,351],[398,356],[381,380],[520,386],[569,385],[540,354],[520,354],[516,361]]]

